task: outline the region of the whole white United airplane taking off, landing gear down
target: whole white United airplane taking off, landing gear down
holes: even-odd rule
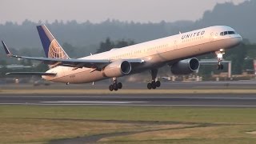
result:
[[[87,83],[113,78],[110,91],[122,89],[117,78],[150,70],[152,81],[148,89],[156,89],[161,83],[155,81],[158,68],[169,65],[173,74],[190,74],[200,64],[198,55],[216,53],[218,69],[222,70],[222,55],[226,49],[238,46],[242,37],[229,26],[210,26],[200,30],[180,33],[166,38],[142,42],[133,46],[112,49],[84,58],[70,58],[46,28],[37,26],[46,58],[18,56],[10,53],[5,42],[6,54],[14,58],[41,61],[50,66],[46,72],[13,72],[7,74],[42,75],[52,82]]]

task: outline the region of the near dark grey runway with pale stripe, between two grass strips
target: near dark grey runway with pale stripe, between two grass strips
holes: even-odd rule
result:
[[[2,95],[0,105],[256,107],[255,94]]]

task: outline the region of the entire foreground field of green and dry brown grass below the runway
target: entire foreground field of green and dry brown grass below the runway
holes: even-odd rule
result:
[[[153,122],[153,123],[152,123]],[[103,143],[251,143],[256,108],[0,106],[0,143],[134,132]]]

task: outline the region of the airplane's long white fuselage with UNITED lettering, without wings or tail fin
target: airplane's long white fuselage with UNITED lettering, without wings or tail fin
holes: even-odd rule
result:
[[[144,62],[133,65],[129,74],[151,70],[186,58],[211,53],[220,49],[229,49],[242,42],[239,34],[229,26],[211,26],[200,30],[177,34],[150,42],[142,42],[133,46],[113,49],[100,54],[90,55],[81,59],[118,59],[140,58]],[[47,71],[55,76],[42,76],[46,80],[65,83],[86,83],[106,79],[102,70],[94,68],[78,68],[56,66]]]

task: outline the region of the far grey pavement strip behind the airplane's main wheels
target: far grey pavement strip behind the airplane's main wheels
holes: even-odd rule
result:
[[[108,90],[110,82],[95,82],[87,84],[66,84],[51,83],[50,86],[33,86],[24,85],[2,85],[3,90],[33,90],[33,89],[49,89],[49,90]],[[128,90],[147,90],[147,82],[123,82],[123,88]],[[256,89],[256,81],[227,81],[227,82],[162,82],[160,89],[162,90],[182,90],[182,89]]]

